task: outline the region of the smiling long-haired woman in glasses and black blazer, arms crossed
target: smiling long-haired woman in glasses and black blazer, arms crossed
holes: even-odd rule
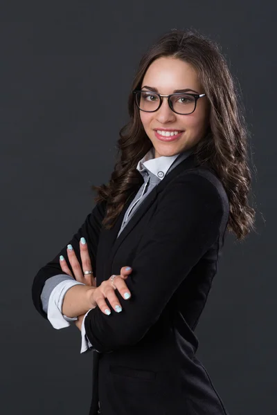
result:
[[[244,239],[255,211],[247,127],[217,44],[164,34],[139,63],[129,116],[111,180],[37,273],[33,302],[56,328],[75,320],[81,351],[93,349],[90,415],[227,414],[194,330],[226,230]]]

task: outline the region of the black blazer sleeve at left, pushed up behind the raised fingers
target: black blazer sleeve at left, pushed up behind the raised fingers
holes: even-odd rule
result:
[[[105,201],[97,203],[91,211],[91,213],[87,215],[87,218],[85,219],[84,223],[80,226],[78,232],[76,232],[73,235],[72,239],[66,243],[64,248],[62,248],[62,250],[60,250],[60,252],[58,252],[57,255],[55,255],[52,261],[49,261],[45,266],[40,268],[37,272],[37,275],[35,275],[32,285],[32,299],[35,308],[37,309],[39,314],[42,315],[42,317],[47,319],[47,314],[43,309],[41,300],[42,290],[44,288],[46,280],[48,278],[53,277],[54,275],[67,275],[60,267],[60,255],[64,256],[64,259],[66,259],[67,265],[69,266],[69,269],[73,274],[73,270],[71,268],[71,265],[69,264],[69,259],[67,256],[67,245],[69,243],[71,243],[71,245],[73,246],[75,255],[81,264],[80,239],[82,237],[86,239],[93,274],[96,275],[96,253],[98,248],[100,229],[102,226],[101,223],[102,219],[105,216],[105,208]]]

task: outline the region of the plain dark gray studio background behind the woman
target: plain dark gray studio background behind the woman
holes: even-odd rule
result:
[[[197,327],[231,415],[276,413],[276,8],[272,1],[3,1],[0,5],[1,413],[87,414],[91,355],[30,288],[114,166],[141,54],[171,28],[220,42],[240,81],[257,169],[258,232],[226,239]],[[116,93],[111,93],[116,90]],[[128,264],[123,264],[123,266]]]

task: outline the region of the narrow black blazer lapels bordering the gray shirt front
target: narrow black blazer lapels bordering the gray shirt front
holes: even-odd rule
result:
[[[105,235],[105,247],[111,247],[109,251],[109,257],[106,262],[106,270],[111,270],[111,262],[114,259],[114,255],[116,255],[116,251],[118,250],[120,244],[124,241],[124,239],[127,237],[129,232],[134,228],[134,226],[140,221],[141,217],[145,214],[145,212],[148,211],[154,200],[157,198],[157,194],[159,192],[162,192],[164,187],[172,180],[172,178],[175,178],[178,174],[183,172],[184,170],[191,169],[193,167],[196,167],[197,162],[195,160],[194,154],[190,154],[188,158],[185,158],[179,165],[177,165],[174,169],[172,169],[168,174],[166,174],[165,178],[159,183],[154,189],[148,194],[148,196],[145,197],[145,200],[141,203],[139,208],[134,212],[133,216],[129,219],[127,222],[127,225],[125,225],[125,228],[123,228],[120,235],[117,237],[117,234],[120,230],[121,223],[123,221],[124,215],[126,210],[129,208],[129,205],[131,205],[132,201],[134,200],[133,197],[130,197],[125,204],[123,210],[120,212],[118,219],[114,225],[114,228],[112,228],[107,232]]]

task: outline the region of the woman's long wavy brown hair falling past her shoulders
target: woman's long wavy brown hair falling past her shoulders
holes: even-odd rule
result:
[[[195,156],[199,164],[208,164],[222,181],[230,203],[227,229],[238,239],[244,239],[250,230],[255,230],[255,210],[248,202],[251,172],[244,107],[220,46],[194,29],[174,29],[163,34],[139,62],[129,93],[130,119],[119,131],[114,172],[107,185],[91,187],[98,193],[94,198],[96,203],[107,202],[102,226],[113,228],[128,197],[143,183],[136,166],[152,147],[152,142],[143,129],[132,91],[141,88],[145,72],[159,57],[184,60],[197,70],[210,104],[210,125],[206,136],[197,144]]]

